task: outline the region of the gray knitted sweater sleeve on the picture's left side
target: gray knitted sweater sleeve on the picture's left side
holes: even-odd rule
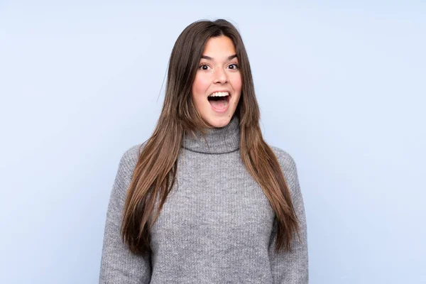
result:
[[[136,165],[137,147],[129,149],[121,157],[119,170],[111,190],[104,230],[99,284],[143,284],[151,280],[150,256],[136,256],[121,240],[126,190],[130,185]]]

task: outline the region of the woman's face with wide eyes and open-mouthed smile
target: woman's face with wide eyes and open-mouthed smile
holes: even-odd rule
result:
[[[192,99],[202,119],[214,127],[229,124],[241,97],[241,72],[234,43],[210,38],[192,84]]]

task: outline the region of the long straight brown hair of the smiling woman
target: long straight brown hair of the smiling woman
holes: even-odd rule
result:
[[[129,185],[121,237],[133,253],[151,251],[150,230],[174,185],[185,132],[198,130],[204,133],[209,128],[192,102],[191,88],[204,45],[209,38],[221,35],[233,41],[242,77],[241,98],[235,113],[240,121],[241,160],[275,212],[278,226],[276,251],[280,251],[283,246],[290,250],[293,234],[299,234],[283,171],[275,154],[263,140],[249,58],[241,35],[231,23],[223,19],[196,21],[182,31],[173,47],[163,109],[153,135],[142,145]],[[157,198],[160,204],[155,210]]]

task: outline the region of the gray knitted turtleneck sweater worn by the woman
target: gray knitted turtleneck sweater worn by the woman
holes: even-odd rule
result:
[[[151,231],[150,256],[133,255],[121,241],[140,145],[124,153],[108,205],[99,283],[308,283],[305,209],[293,158],[272,147],[301,237],[292,239],[291,251],[276,253],[274,212],[241,161],[238,118],[210,130],[206,141],[185,137],[175,185]]]

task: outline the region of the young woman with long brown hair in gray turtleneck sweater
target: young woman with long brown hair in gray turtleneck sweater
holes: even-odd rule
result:
[[[99,283],[308,282],[295,162],[259,116],[236,28],[187,26],[155,131],[121,158]]]

